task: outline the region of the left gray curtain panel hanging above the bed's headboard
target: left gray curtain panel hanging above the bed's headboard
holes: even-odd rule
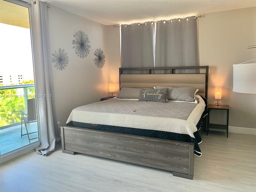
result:
[[[121,67],[154,67],[154,25],[121,26]]]

